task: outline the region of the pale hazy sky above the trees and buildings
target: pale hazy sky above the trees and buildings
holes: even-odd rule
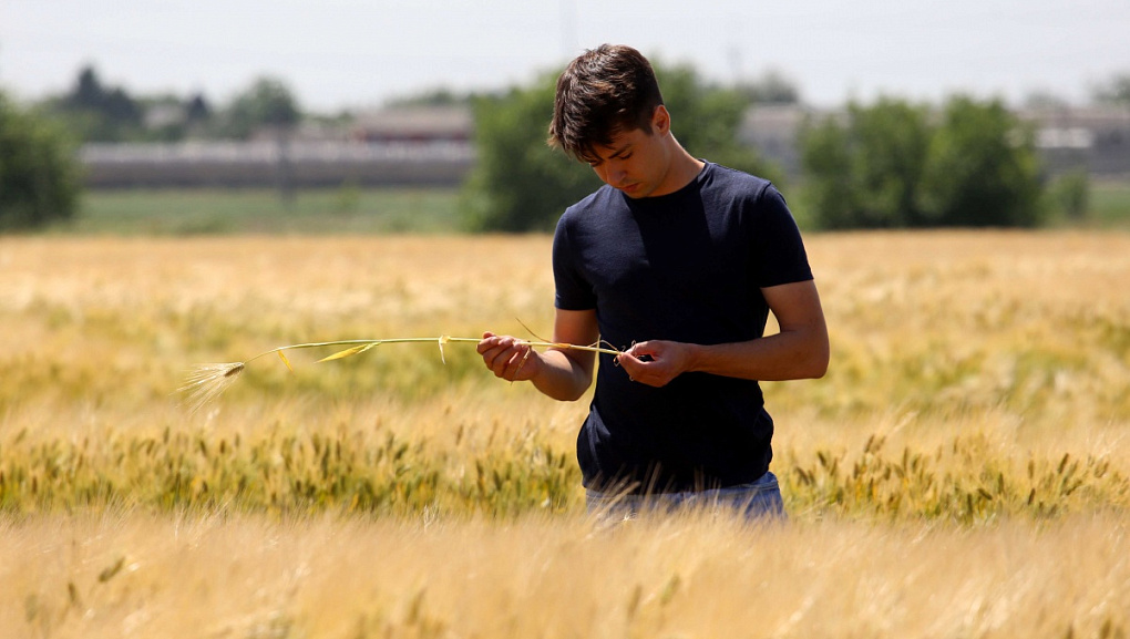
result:
[[[0,88],[58,95],[90,64],[133,96],[221,104],[271,76],[332,113],[527,84],[605,42],[721,82],[772,70],[819,107],[1083,104],[1130,75],[1130,0],[0,0]]]

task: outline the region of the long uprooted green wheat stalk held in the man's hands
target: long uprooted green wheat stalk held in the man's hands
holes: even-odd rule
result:
[[[286,351],[298,350],[298,349],[316,349],[325,347],[342,347],[348,345],[349,348],[338,351],[328,357],[323,357],[318,360],[319,362],[330,361],[334,359],[344,359],[347,357],[353,357],[355,354],[360,354],[370,349],[376,348],[381,344],[405,344],[405,343],[419,343],[419,342],[434,342],[440,347],[440,359],[446,364],[447,360],[444,358],[443,347],[452,342],[473,342],[478,343],[481,340],[478,338],[452,338],[450,335],[440,335],[438,338],[393,338],[386,340],[337,340],[332,342],[310,342],[304,344],[288,344],[285,347],[278,347],[269,351],[263,351],[252,358],[245,359],[243,361],[229,361],[224,364],[201,364],[192,367],[185,378],[184,385],[177,388],[177,393],[184,395],[184,401],[182,402],[189,409],[189,412],[194,413],[201,408],[211,403],[216,397],[220,396],[224,391],[235,383],[240,374],[247,367],[252,361],[269,356],[271,353],[278,353],[279,359],[286,365],[287,369],[292,373],[294,367],[290,366],[290,360],[286,357]],[[548,342],[548,341],[528,341],[521,340],[519,343],[525,344],[530,348],[555,348],[560,350],[581,350],[596,353],[608,353],[608,354],[620,354],[620,350],[611,348],[605,341],[599,341],[589,345],[581,344],[570,344],[565,342]],[[529,353],[527,353],[529,354]],[[524,360],[523,360],[524,364]]]

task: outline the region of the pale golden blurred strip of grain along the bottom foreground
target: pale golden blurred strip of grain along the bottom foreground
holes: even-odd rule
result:
[[[1124,637],[1121,517],[0,524],[12,637]]]

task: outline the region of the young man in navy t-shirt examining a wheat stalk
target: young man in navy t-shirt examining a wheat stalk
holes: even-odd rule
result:
[[[828,336],[797,225],[765,180],[688,154],[647,60],[602,45],[557,81],[550,143],[605,186],[557,224],[553,340],[601,354],[577,438],[590,511],[685,504],[783,515],[757,380],[822,377]],[[772,310],[781,332],[763,336]],[[594,356],[486,333],[498,377],[573,401]]]

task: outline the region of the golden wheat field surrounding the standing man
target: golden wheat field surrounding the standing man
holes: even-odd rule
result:
[[[790,519],[608,526],[586,401],[385,344],[548,336],[549,238],[0,238],[2,637],[1127,637],[1130,235],[808,238]]]

